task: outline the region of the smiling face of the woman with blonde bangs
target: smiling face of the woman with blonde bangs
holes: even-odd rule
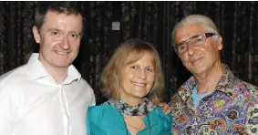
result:
[[[155,80],[153,57],[146,53],[135,63],[122,66],[119,75],[120,99],[131,106],[138,105],[153,86]]]

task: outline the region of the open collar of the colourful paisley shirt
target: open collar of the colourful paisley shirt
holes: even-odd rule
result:
[[[227,65],[222,64],[222,69],[223,69],[222,78],[220,78],[214,91],[221,91],[227,96],[229,96],[230,98],[233,98],[233,95],[231,93],[233,91],[232,87],[233,87],[233,82],[235,77]],[[192,76],[181,86],[181,88],[179,88],[178,92],[179,92],[179,95],[181,96],[181,99],[184,99],[184,100],[190,99],[191,93],[194,87],[196,87],[196,81],[195,81],[195,78],[193,78]]]

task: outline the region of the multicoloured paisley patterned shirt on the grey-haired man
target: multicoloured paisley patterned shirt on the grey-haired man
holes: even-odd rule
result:
[[[196,86],[191,77],[170,99],[172,134],[243,135],[258,134],[258,88],[233,76],[223,67],[214,92],[194,108],[191,93]]]

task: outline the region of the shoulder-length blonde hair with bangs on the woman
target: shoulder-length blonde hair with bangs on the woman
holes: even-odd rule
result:
[[[161,70],[160,56],[150,43],[139,39],[129,39],[123,43],[109,59],[107,66],[101,75],[102,93],[108,99],[119,100],[119,74],[123,66],[138,61],[145,54],[149,54],[152,59],[155,71],[155,80],[147,97],[158,104],[163,96],[164,78]]]

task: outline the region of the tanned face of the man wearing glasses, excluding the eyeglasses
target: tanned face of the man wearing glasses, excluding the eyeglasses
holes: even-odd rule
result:
[[[201,25],[191,24],[176,29],[175,42],[176,44],[185,41],[192,36],[207,33]],[[206,42],[201,46],[193,47],[188,45],[185,53],[179,55],[182,64],[191,71],[194,76],[205,74],[213,68],[215,64],[220,63],[220,50],[222,49],[222,37],[217,37],[213,40],[214,36],[208,37]]]

